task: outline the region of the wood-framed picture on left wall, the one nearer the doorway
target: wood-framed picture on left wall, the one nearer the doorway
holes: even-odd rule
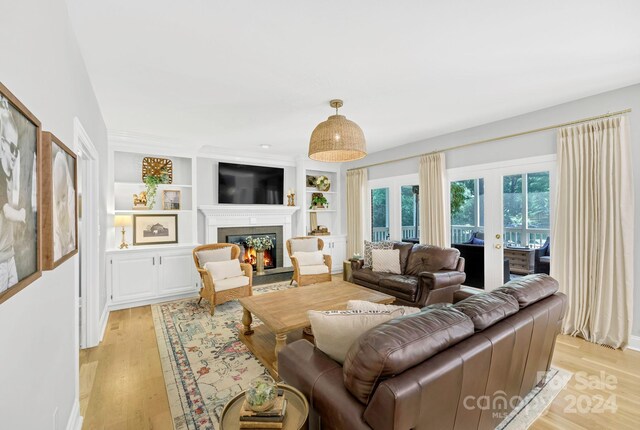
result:
[[[78,253],[76,154],[52,133],[42,133],[42,268],[51,270]]]

